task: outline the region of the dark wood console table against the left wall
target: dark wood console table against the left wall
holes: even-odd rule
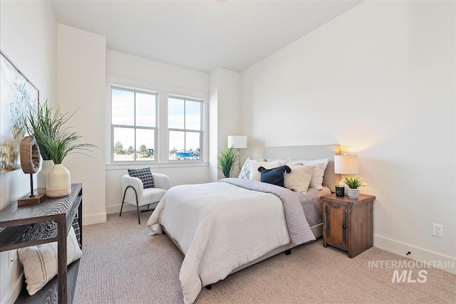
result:
[[[58,282],[58,304],[73,302],[73,292],[68,293],[67,290],[66,236],[70,231],[73,219],[78,214],[82,248],[82,197],[82,184],[71,184],[71,194],[68,196],[58,199],[47,198],[40,204],[28,206],[18,206],[15,201],[0,211],[0,251],[58,242],[58,273],[57,280],[55,278],[53,280],[54,283]],[[75,271],[71,271],[71,273],[75,273]],[[76,269],[76,276],[77,273]],[[76,279],[74,282],[76,287]],[[46,289],[46,286],[43,289]],[[51,288],[51,290],[55,290],[55,288]],[[35,298],[38,293],[33,295],[35,300],[31,300],[31,302],[38,303]],[[32,299],[30,296],[28,298]],[[46,303],[55,302],[55,295],[48,295],[46,301]]]

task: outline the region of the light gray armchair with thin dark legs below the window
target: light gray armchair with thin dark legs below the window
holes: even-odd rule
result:
[[[143,188],[142,181],[138,177],[130,177],[128,174],[122,177],[123,199],[119,216],[122,216],[124,203],[136,206],[138,223],[141,224],[140,207],[147,205],[147,208],[149,208],[150,205],[153,205],[152,209],[155,209],[155,206],[157,206],[171,186],[170,178],[165,174],[152,173],[152,177],[154,178],[155,188],[146,189]]]

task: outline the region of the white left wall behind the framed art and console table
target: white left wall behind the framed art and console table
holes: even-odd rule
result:
[[[0,49],[40,92],[41,102],[56,96],[57,22],[48,1],[0,2]],[[0,173],[0,209],[30,192],[22,170]],[[0,253],[0,303],[13,303],[21,290],[22,267],[8,266],[8,252]]]

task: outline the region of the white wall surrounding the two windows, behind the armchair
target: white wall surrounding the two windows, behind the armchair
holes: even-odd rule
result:
[[[163,113],[163,107],[167,107],[167,94],[173,93],[187,97],[202,98],[208,100],[208,75],[206,73],[180,68],[145,58],[132,56],[118,51],[107,50],[106,55],[107,82],[116,85],[127,85],[131,88],[141,88],[157,91],[160,103],[159,112]],[[109,90],[108,85],[106,90]],[[110,100],[105,101],[105,108],[109,109]],[[207,102],[204,111],[208,111]],[[166,113],[167,111],[165,111]],[[106,112],[105,128],[110,128],[110,111]],[[160,115],[159,126],[167,128],[167,116]],[[204,130],[207,130],[207,121],[204,122]],[[106,179],[106,211],[118,213],[122,204],[122,176],[127,174],[128,168],[151,167],[152,172],[167,174],[170,177],[171,186],[178,184],[197,184],[209,182],[208,153],[204,154],[201,164],[172,164],[167,163],[167,154],[160,154],[160,164],[110,164],[110,134],[105,136],[105,179]],[[159,137],[162,147],[167,147],[167,138]],[[165,149],[166,150],[166,149]],[[207,150],[207,149],[206,149]],[[124,206],[124,211],[134,210],[130,205]]]

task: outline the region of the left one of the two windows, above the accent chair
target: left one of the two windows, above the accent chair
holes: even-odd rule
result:
[[[113,162],[155,160],[157,94],[111,88]]]

